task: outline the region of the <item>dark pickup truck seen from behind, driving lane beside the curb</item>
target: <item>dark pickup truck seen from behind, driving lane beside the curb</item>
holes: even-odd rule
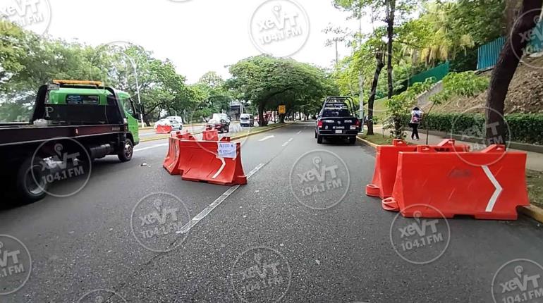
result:
[[[356,117],[353,99],[350,97],[328,97],[315,125],[315,138],[322,144],[326,137],[346,138],[355,144],[361,123]]]

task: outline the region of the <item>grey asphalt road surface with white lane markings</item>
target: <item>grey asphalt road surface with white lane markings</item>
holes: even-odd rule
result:
[[[169,175],[161,140],[138,145],[128,163],[97,161],[71,197],[1,210],[0,234],[28,247],[32,272],[0,302],[493,302],[502,265],[543,264],[543,228],[529,218],[419,221],[382,210],[365,196],[370,147],[317,144],[303,123],[242,142],[252,175],[238,188]],[[187,233],[136,239],[145,212],[133,220],[133,211],[142,204],[177,205],[178,221],[188,223],[213,202]],[[403,247],[398,230],[413,223],[432,239]],[[523,273],[537,272],[530,266]],[[521,277],[517,269],[498,272],[494,291]],[[0,292],[12,286],[3,281]]]

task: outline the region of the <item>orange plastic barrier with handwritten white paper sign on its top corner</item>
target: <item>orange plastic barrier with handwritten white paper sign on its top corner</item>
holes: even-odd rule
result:
[[[221,157],[219,145],[232,147],[232,158]],[[179,140],[178,171],[183,180],[207,182],[218,185],[245,185],[247,177],[241,164],[240,142]]]

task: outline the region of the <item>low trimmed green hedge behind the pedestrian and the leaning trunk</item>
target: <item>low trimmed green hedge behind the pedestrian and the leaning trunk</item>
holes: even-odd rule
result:
[[[538,113],[511,113],[505,116],[511,130],[511,141],[543,144],[543,115]],[[404,116],[407,125],[410,116]],[[454,135],[484,137],[484,115],[477,113],[430,113],[422,120],[421,128]],[[509,137],[509,135],[506,135]]]

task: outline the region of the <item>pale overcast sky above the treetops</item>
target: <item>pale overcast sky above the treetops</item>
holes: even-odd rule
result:
[[[20,0],[1,0],[20,1]],[[44,14],[30,27],[55,38],[90,45],[130,42],[169,58],[189,83],[213,70],[228,78],[227,66],[262,53],[331,67],[335,48],[326,47],[327,25],[358,30],[358,20],[332,0],[22,0]],[[13,11],[15,12],[15,11]],[[362,31],[371,25],[364,22]],[[340,58],[350,51],[339,42]]]

